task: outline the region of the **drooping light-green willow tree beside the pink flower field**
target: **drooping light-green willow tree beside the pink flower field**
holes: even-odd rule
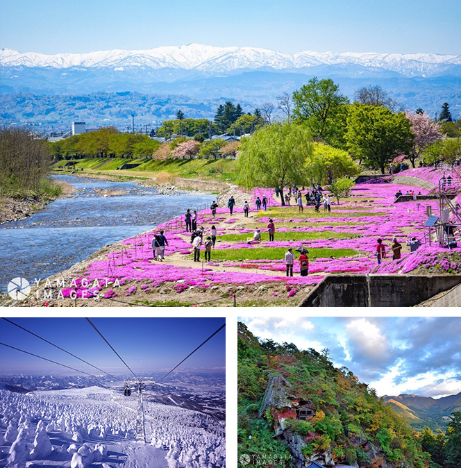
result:
[[[308,128],[294,124],[267,125],[242,142],[237,166],[240,183],[247,189],[276,188],[285,205],[283,188],[287,183],[305,183],[301,168],[311,153]]]

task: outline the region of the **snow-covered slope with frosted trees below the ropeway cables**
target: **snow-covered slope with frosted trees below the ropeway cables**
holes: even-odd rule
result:
[[[226,465],[223,421],[144,401],[144,444],[135,441],[136,414],[136,396],[100,387],[25,395],[0,389],[0,467]]]

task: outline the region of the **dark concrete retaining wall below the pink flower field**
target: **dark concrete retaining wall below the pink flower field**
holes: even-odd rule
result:
[[[461,284],[461,275],[328,275],[299,307],[411,307]]]

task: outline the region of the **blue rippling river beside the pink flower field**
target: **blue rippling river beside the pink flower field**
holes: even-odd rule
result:
[[[213,195],[160,195],[132,182],[53,176],[74,186],[69,198],[49,203],[31,217],[0,226],[0,290],[12,278],[29,283],[85,260],[103,246],[147,231],[182,215],[187,208],[210,203]],[[101,190],[120,191],[104,197]]]

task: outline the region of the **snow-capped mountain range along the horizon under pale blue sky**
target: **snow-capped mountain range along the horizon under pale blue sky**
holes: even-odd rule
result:
[[[194,70],[209,75],[232,74],[237,70],[303,71],[321,65],[359,66],[385,69],[401,76],[439,76],[460,72],[461,56],[436,53],[286,53],[256,47],[212,47],[187,44],[137,51],[97,51],[90,53],[21,53],[0,49],[1,67],[69,69],[107,68],[123,71],[131,67],[154,70]]]

